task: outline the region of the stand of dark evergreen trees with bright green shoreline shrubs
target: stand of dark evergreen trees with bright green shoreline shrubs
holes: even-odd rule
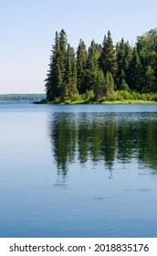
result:
[[[56,32],[45,80],[47,102],[157,101],[157,29],[135,46],[108,31],[102,44],[82,39],[75,50],[64,29]]]

